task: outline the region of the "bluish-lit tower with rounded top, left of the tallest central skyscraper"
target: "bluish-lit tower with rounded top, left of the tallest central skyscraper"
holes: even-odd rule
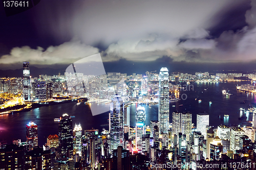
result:
[[[112,98],[110,104],[110,150],[116,150],[123,143],[123,109],[119,95]]]

